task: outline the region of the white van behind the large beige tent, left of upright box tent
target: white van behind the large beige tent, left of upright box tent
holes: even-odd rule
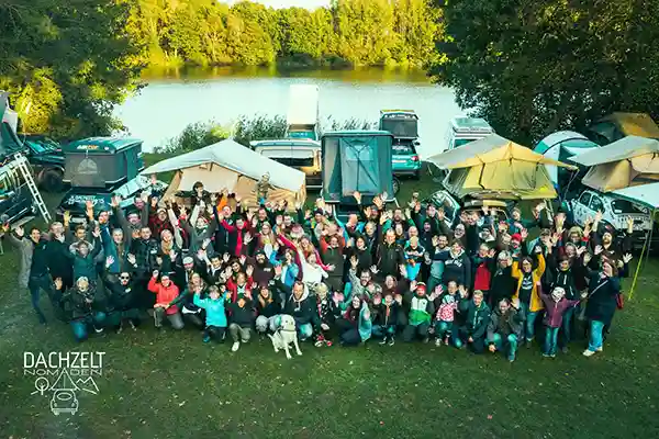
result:
[[[306,138],[281,140],[254,140],[255,153],[282,165],[301,170],[306,176],[306,189],[321,190],[321,144]]]

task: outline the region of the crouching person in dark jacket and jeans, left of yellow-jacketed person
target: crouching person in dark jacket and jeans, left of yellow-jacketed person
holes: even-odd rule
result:
[[[518,302],[517,302],[518,305]],[[490,352],[504,351],[509,361],[515,361],[517,341],[522,337],[524,316],[510,299],[499,301],[488,324],[488,349]]]

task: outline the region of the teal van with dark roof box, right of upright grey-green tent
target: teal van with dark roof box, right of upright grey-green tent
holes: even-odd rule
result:
[[[392,169],[394,176],[421,176],[421,159],[417,148],[418,116],[414,110],[380,110],[381,131],[393,135]]]

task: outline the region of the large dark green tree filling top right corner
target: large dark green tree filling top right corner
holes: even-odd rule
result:
[[[612,111],[659,116],[658,0],[450,0],[431,74],[458,104],[532,145]]]

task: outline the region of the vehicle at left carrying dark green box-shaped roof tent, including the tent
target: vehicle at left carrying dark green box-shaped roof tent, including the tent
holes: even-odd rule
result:
[[[133,198],[150,190],[150,181],[139,176],[144,169],[142,140],[118,137],[92,137],[64,147],[66,158],[65,182],[71,189],[56,209],[56,216],[71,214],[71,225],[85,222],[87,202],[98,209],[109,209],[113,195],[124,200],[122,209],[133,204]],[[158,190],[167,185],[158,182]]]

